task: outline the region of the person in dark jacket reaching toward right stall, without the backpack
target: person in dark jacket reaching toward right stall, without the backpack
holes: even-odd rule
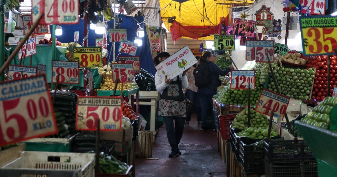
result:
[[[209,71],[210,71],[210,81],[207,87],[198,88],[197,93],[200,95],[201,99],[201,129],[200,130],[207,130],[213,129],[213,127],[207,127],[207,115],[208,111],[211,109],[212,115],[213,113],[213,96],[216,94],[217,88],[221,85],[221,81],[219,79],[220,76],[225,76],[231,70],[234,69],[233,66],[229,66],[225,70],[221,70],[221,68],[214,63],[214,57],[212,52],[207,51],[204,55],[200,58],[200,62],[207,63]]]

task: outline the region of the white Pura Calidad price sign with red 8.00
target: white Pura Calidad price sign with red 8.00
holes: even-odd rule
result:
[[[60,84],[80,83],[80,69],[77,61],[52,60],[52,83],[56,83],[57,75]]]

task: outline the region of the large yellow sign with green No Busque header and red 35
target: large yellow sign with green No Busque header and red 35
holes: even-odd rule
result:
[[[329,55],[337,48],[337,16],[301,16],[304,55]]]

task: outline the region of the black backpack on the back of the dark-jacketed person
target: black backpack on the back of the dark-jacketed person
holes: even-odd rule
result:
[[[193,71],[195,86],[207,87],[210,79],[210,71],[207,63],[200,63]]]

